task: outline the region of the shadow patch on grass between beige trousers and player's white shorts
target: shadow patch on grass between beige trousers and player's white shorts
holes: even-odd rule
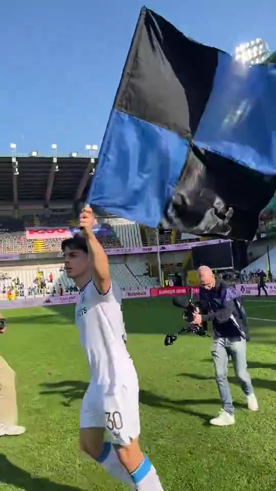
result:
[[[61,382],[40,384],[40,387],[45,389],[40,394],[59,394],[65,399],[63,401],[64,406],[71,406],[74,400],[82,399],[86,389],[88,388],[87,382],[79,380],[63,380]]]

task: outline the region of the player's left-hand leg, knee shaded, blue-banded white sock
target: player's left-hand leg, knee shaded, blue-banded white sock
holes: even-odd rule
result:
[[[112,443],[104,441],[105,428],[81,428],[80,448],[89,457],[99,462],[106,472],[134,488],[127,468],[120,462]]]

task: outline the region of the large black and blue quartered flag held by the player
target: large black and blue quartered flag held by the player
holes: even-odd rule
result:
[[[276,188],[276,65],[243,65],[143,8],[87,202],[252,239]]]

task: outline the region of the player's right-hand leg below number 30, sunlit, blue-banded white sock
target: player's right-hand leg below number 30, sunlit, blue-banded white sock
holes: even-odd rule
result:
[[[141,452],[138,438],[124,447],[114,445],[120,462],[126,467],[136,491],[163,491],[155,468]]]

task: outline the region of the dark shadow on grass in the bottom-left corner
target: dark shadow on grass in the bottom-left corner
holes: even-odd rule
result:
[[[44,477],[34,477],[10,462],[4,454],[0,454],[0,487],[1,483],[25,491],[81,491],[79,487],[58,484]]]

